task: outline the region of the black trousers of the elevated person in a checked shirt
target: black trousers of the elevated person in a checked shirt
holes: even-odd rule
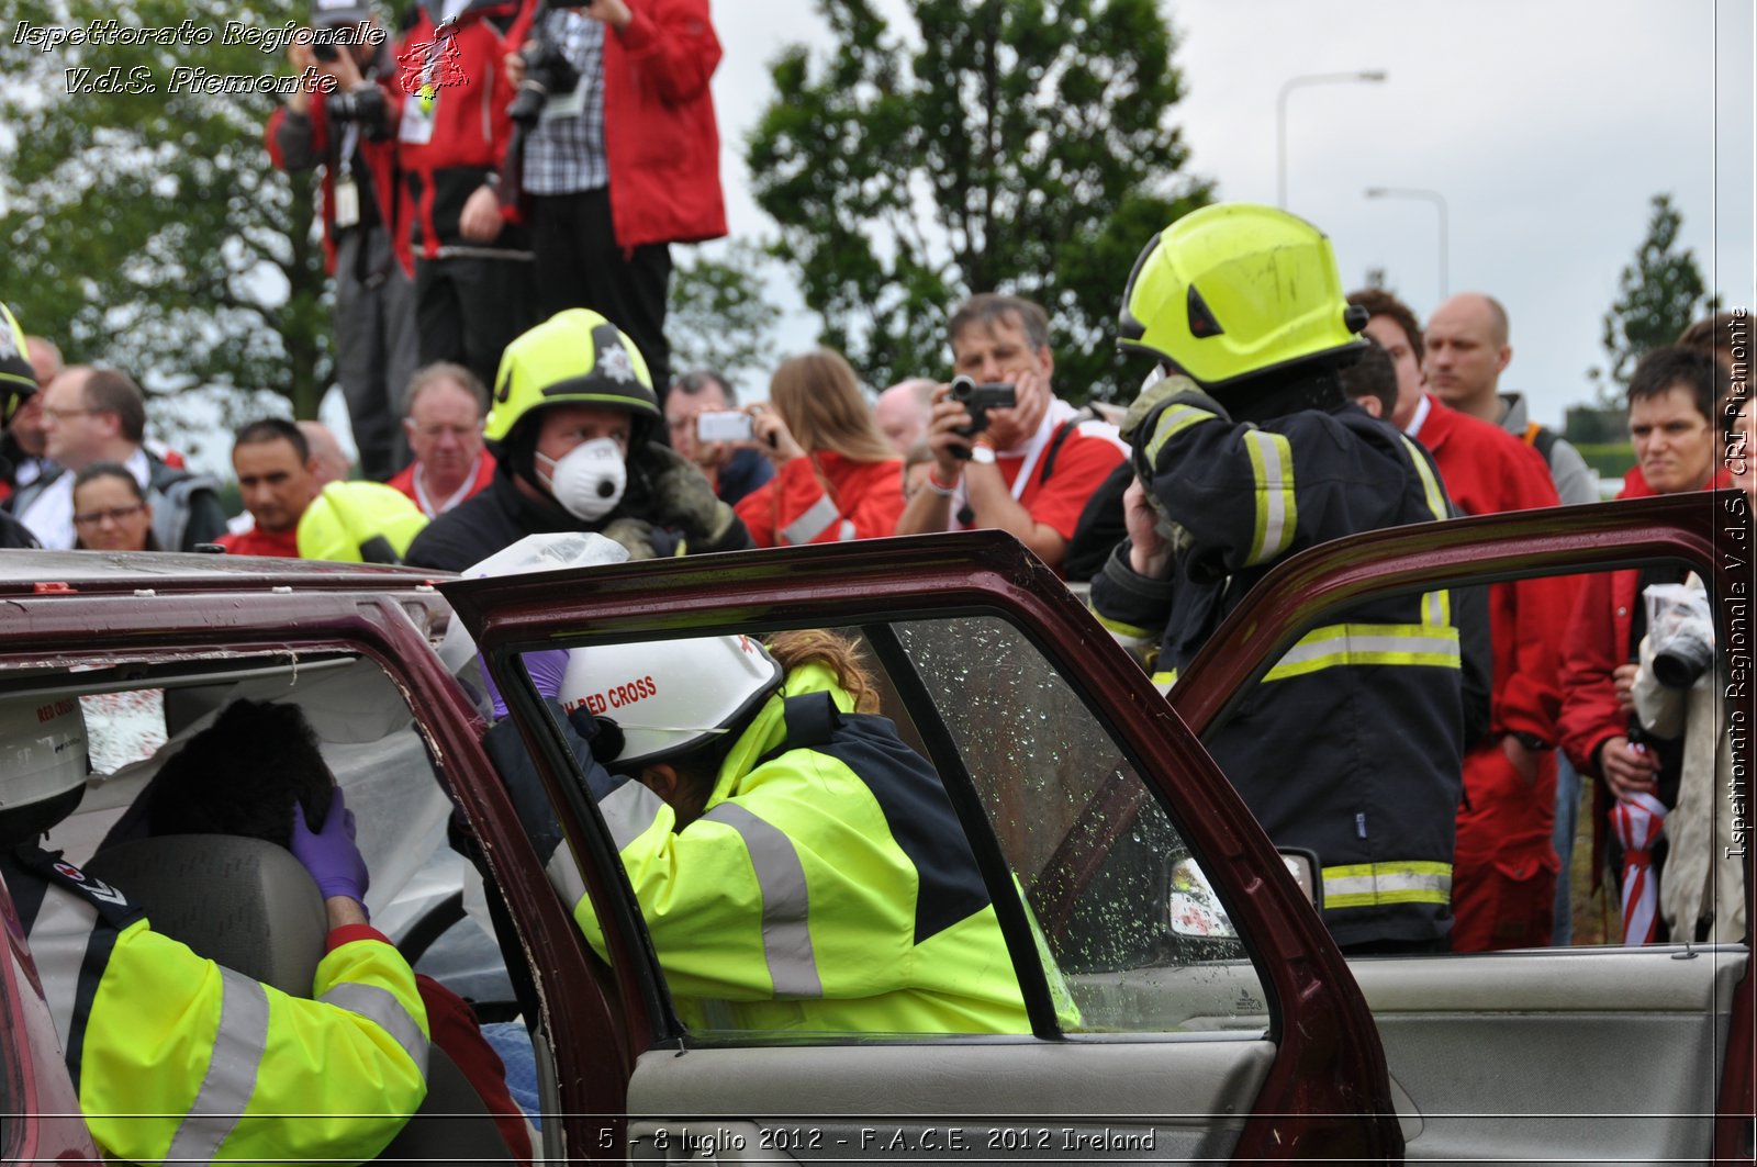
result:
[[[536,251],[538,308],[548,320],[566,308],[590,308],[629,334],[654,392],[671,387],[671,346],[664,306],[671,285],[671,248],[648,243],[624,253],[610,221],[610,190],[531,197],[531,248]]]

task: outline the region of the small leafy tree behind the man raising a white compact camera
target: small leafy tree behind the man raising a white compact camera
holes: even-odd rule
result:
[[[773,367],[780,309],[763,294],[768,265],[761,246],[734,239],[671,272],[666,336],[673,371],[708,367],[736,381],[740,373]]]

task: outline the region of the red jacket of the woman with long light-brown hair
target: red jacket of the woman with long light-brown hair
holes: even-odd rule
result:
[[[884,538],[903,517],[903,462],[821,450],[784,464],[733,510],[757,547]]]

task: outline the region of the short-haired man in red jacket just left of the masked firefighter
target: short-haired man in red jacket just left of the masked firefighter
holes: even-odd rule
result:
[[[402,395],[402,432],[415,460],[388,483],[422,513],[443,515],[494,482],[494,455],[481,445],[488,390],[460,364],[418,369]]]

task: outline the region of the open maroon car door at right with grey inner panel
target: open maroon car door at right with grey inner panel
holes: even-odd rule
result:
[[[1645,564],[1688,568],[1715,598],[1734,750],[1717,812],[1732,815],[1743,840],[1752,559],[1748,510],[1732,492],[1469,518],[1314,548],[1260,584],[1170,703],[1193,731],[1212,733],[1302,634],[1370,596]],[[1746,919],[1752,873],[1746,856]],[[1606,914],[1611,942],[1601,946],[1349,960],[1385,1042],[1411,1160],[1750,1160],[1748,944],[1623,947],[1615,900]]]

